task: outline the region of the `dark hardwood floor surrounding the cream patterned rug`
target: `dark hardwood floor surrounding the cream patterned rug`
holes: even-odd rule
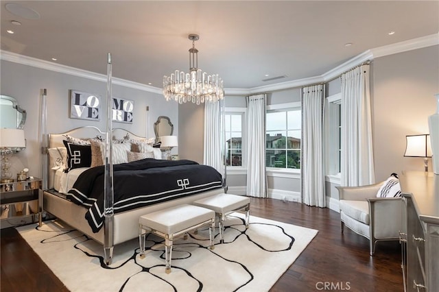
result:
[[[401,248],[379,242],[369,256],[367,239],[345,228],[340,215],[277,199],[251,199],[251,214],[318,230],[270,291],[403,291]],[[1,230],[1,291],[67,291],[14,228]]]

